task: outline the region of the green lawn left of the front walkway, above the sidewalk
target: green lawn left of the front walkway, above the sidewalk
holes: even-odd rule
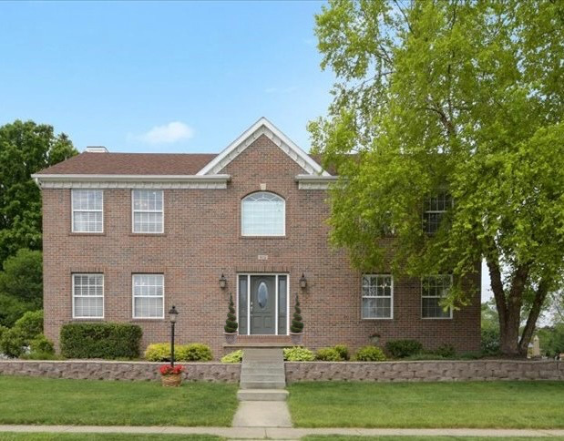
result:
[[[59,380],[0,375],[0,424],[230,426],[237,385]]]

